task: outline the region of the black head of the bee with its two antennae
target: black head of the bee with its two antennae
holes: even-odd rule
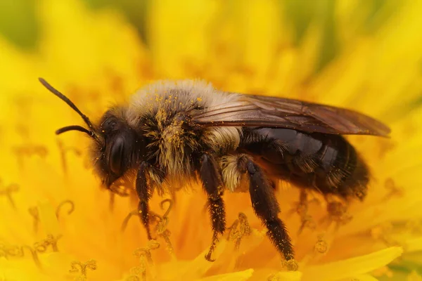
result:
[[[143,136],[136,133],[129,124],[127,124],[124,117],[124,108],[117,107],[108,110],[102,119],[99,126],[94,126],[89,118],[82,114],[72,101],[70,101],[63,93],[54,89],[44,79],[39,78],[41,84],[46,89],[58,96],[61,100],[67,103],[73,110],[75,110],[87,124],[88,128],[79,125],[65,126],[56,131],[56,134],[65,133],[67,131],[80,131],[87,133],[87,135],[94,141],[92,143],[91,153],[94,158],[94,168],[106,188],[118,179],[131,168],[134,168],[139,163],[141,153],[144,151],[145,143]]]

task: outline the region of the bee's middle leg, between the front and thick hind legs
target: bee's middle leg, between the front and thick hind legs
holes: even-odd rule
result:
[[[203,188],[208,195],[208,211],[212,223],[212,244],[210,251],[205,255],[207,261],[211,259],[212,252],[218,242],[218,235],[222,235],[226,230],[226,212],[224,211],[224,202],[222,195],[224,192],[222,178],[220,176],[218,165],[210,155],[203,155],[200,164],[200,179],[203,182]]]

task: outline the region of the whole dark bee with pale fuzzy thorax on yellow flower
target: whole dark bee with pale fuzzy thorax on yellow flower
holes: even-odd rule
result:
[[[249,192],[269,240],[284,259],[294,259],[288,230],[279,218],[275,179],[343,200],[364,200],[369,169],[343,135],[390,133],[388,126],[352,110],[229,93],[193,80],[157,81],[93,124],[62,93],[39,81],[84,120],[87,127],[65,126],[56,133],[80,131],[91,138],[94,170],[106,188],[136,174],[138,209],[148,239],[148,202],[154,190],[162,194],[180,183],[201,183],[213,230],[205,256],[209,261],[226,230],[225,190]]]

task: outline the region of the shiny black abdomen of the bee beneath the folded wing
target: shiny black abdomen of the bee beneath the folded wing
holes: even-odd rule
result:
[[[293,129],[245,129],[240,150],[254,155],[271,176],[324,194],[363,199],[366,164],[340,135]]]

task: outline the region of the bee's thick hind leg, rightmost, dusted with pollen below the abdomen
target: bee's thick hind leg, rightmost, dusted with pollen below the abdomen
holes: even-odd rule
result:
[[[252,207],[255,214],[267,226],[269,240],[286,260],[294,259],[293,246],[286,225],[278,217],[280,207],[271,182],[260,166],[250,159],[245,163],[245,170],[248,172],[250,179],[249,192]]]

